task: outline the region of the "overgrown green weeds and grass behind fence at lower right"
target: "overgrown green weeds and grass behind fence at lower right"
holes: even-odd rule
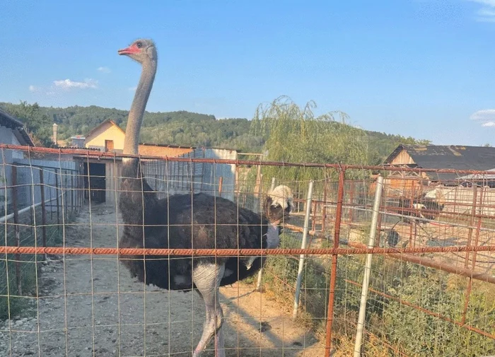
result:
[[[281,247],[300,246],[297,235],[284,233],[281,236]],[[338,257],[332,335],[337,346],[336,356],[351,356],[354,350],[365,259],[363,254]],[[267,260],[264,291],[268,298],[284,306],[287,313],[293,308],[297,270],[298,257],[275,256]],[[330,264],[328,260],[308,257],[303,273],[298,323],[324,340]],[[399,352],[420,357],[494,354],[493,339],[432,315],[441,314],[446,319],[461,321],[466,287],[467,279],[461,276],[376,254],[366,308],[363,340],[366,356],[392,357]],[[432,314],[402,302],[417,305]],[[466,322],[495,334],[495,286],[473,281]]]

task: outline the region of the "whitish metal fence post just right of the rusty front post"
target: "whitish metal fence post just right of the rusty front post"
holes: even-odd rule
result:
[[[383,189],[383,176],[378,176],[376,181],[375,201],[373,203],[373,216],[371,218],[370,237],[368,248],[375,246],[376,226],[378,225],[378,216],[380,214],[380,201]],[[366,254],[366,265],[364,268],[363,286],[361,288],[361,303],[359,304],[358,326],[356,329],[356,344],[354,344],[354,357],[361,356],[361,344],[363,341],[364,318],[366,315],[366,301],[368,300],[368,286],[371,276],[371,259],[373,254]]]

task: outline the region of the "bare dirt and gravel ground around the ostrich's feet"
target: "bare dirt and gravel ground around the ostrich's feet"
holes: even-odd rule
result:
[[[90,220],[91,216],[91,220]],[[91,225],[90,225],[91,221]],[[115,247],[115,211],[85,206],[65,227],[67,246]],[[0,322],[0,356],[191,356],[204,322],[197,293],[134,281],[115,256],[50,257],[30,310]],[[322,343],[266,295],[221,288],[227,356],[320,357]],[[204,356],[214,356],[211,351]]]

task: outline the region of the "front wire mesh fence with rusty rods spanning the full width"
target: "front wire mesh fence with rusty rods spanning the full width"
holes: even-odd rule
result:
[[[177,251],[165,244],[136,253],[119,245],[121,157],[1,149],[1,356],[191,356],[203,329],[202,299],[132,279],[117,253],[141,252],[168,261],[178,254],[268,256],[260,276],[220,289],[226,356],[495,353],[489,172],[266,163],[208,153],[141,157],[144,179],[165,201],[205,192],[262,213],[267,192],[286,185],[295,208],[281,222],[280,249]],[[13,151],[23,158],[9,160]],[[378,222],[368,249],[375,199]],[[18,262],[29,267],[21,268],[21,289]]]

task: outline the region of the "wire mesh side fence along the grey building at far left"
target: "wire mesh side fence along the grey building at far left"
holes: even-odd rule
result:
[[[83,204],[80,168],[71,160],[40,160],[8,151],[1,154],[4,245],[62,245],[64,225]],[[1,259],[0,318],[21,312],[29,300],[26,297],[37,293],[37,267],[46,260],[45,254],[13,254]]]

